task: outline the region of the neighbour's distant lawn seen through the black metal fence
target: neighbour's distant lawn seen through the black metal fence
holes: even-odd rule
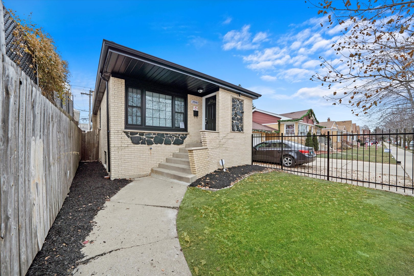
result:
[[[385,163],[385,164],[397,164],[394,158],[390,156],[388,152],[383,152],[386,149],[385,146],[379,146],[378,150],[375,150],[375,146],[368,146],[368,149],[365,149],[364,146],[361,146],[359,149],[348,149],[340,152],[335,152],[329,154],[329,158],[332,159],[343,159],[343,160],[358,160],[366,162],[376,162],[376,163]],[[327,154],[321,154],[320,158],[327,158]]]

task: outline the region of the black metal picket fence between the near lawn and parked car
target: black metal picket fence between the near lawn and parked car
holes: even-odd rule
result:
[[[252,162],[313,178],[414,194],[414,130],[333,133],[253,133]]]

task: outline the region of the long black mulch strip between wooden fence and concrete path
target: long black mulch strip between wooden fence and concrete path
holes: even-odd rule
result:
[[[27,275],[69,275],[84,258],[82,242],[91,233],[94,216],[127,179],[109,180],[100,162],[80,162],[70,192]],[[89,241],[93,242],[93,241]]]

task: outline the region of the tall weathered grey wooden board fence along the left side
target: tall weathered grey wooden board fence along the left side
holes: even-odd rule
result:
[[[4,41],[0,20],[0,274],[24,275],[69,192],[81,131],[5,55]]]

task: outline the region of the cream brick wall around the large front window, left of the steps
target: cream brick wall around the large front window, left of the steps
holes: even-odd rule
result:
[[[111,179],[114,178],[136,178],[149,175],[151,168],[157,167],[158,163],[164,162],[167,157],[172,157],[180,147],[186,143],[200,142],[200,129],[202,128],[202,98],[188,95],[188,136],[183,145],[135,145],[125,135],[125,81],[111,77],[109,80],[109,113],[110,113],[110,146],[111,146]],[[193,116],[191,100],[199,102],[199,116]],[[104,105],[102,101],[102,106]],[[102,109],[102,108],[101,108]],[[104,115],[102,113],[102,115]],[[106,114],[105,114],[106,116]],[[106,118],[106,117],[105,117]],[[102,137],[106,128],[102,125]],[[148,132],[146,132],[148,133]],[[154,132],[151,132],[154,133]],[[174,132],[176,133],[176,132]],[[106,136],[104,137],[106,146]],[[102,141],[102,140],[101,140]],[[101,148],[102,148],[101,147]]]

